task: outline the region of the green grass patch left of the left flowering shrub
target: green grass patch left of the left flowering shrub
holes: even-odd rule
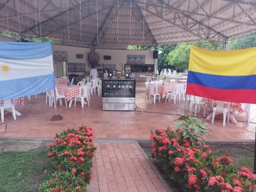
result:
[[[51,171],[47,151],[0,152],[0,191],[36,191]]]

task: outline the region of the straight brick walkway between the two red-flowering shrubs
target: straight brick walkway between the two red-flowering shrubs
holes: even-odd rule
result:
[[[96,145],[90,191],[171,191],[135,143]]]

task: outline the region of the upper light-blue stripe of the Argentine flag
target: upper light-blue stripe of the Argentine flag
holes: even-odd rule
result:
[[[51,42],[0,42],[0,58],[26,60],[44,58],[52,54]]]

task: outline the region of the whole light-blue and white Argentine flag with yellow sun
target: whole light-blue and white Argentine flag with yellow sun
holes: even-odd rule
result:
[[[0,42],[0,100],[54,88],[51,42]]]

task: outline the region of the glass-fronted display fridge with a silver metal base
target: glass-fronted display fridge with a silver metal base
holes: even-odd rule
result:
[[[102,110],[134,110],[134,79],[102,79]]]

